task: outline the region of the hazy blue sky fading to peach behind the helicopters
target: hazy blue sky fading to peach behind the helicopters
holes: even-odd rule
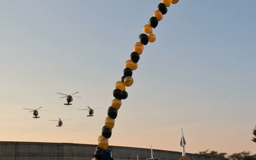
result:
[[[1,1],[0,140],[97,144],[114,84],[161,1]],[[171,5],[144,46],[110,146],[255,154],[256,1]],[[56,92],[77,94],[64,106]],[[94,117],[79,109],[103,107]],[[28,110],[43,106],[40,119]],[[72,119],[62,128],[51,119]]]

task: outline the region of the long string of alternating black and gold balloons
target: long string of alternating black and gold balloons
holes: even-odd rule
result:
[[[114,127],[114,119],[117,117],[117,112],[122,105],[122,100],[128,97],[128,93],[125,91],[126,87],[133,84],[132,71],[138,68],[139,56],[144,50],[144,46],[147,43],[153,43],[156,40],[156,36],[153,34],[153,28],[156,28],[159,21],[163,18],[163,15],[167,13],[167,7],[171,4],[176,4],[178,0],[162,0],[158,5],[158,9],[154,11],[154,14],[149,18],[149,23],[144,25],[144,33],[139,35],[139,42],[134,44],[134,50],[130,55],[130,59],[125,62],[124,75],[121,80],[115,83],[115,89],[113,90],[114,100],[112,100],[111,106],[107,110],[107,117],[105,119],[105,126],[102,127],[102,134],[98,137],[98,146],[95,149],[94,158],[92,160],[101,160],[102,151],[107,149],[109,144],[108,140],[112,135],[112,129]]]

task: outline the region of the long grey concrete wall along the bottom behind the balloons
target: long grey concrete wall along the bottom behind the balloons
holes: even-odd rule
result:
[[[43,142],[0,142],[0,160],[92,160],[97,145],[43,143]],[[114,160],[147,159],[150,149],[125,146],[110,146]],[[198,154],[186,154],[190,160],[223,160]],[[181,152],[154,149],[154,156],[162,160],[178,160]]]

